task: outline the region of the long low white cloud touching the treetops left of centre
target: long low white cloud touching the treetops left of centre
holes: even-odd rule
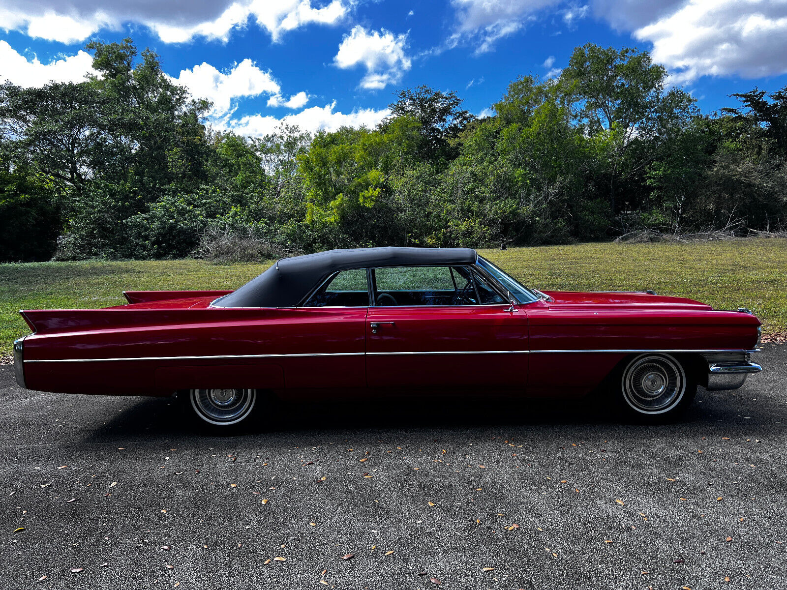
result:
[[[239,135],[260,137],[275,131],[282,124],[297,125],[303,131],[314,133],[320,129],[336,131],[339,127],[375,127],[390,115],[390,109],[360,109],[353,112],[334,112],[336,102],[323,107],[312,106],[293,115],[278,119],[274,116],[249,115],[238,119],[226,118],[215,121],[216,127],[234,131]]]

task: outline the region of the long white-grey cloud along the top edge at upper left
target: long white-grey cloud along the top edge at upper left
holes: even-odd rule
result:
[[[74,43],[108,28],[119,31],[125,23],[141,24],[164,42],[187,42],[196,36],[226,41],[249,21],[264,28],[274,41],[283,32],[305,24],[335,24],[349,11],[352,0],[4,0],[0,28],[31,37]],[[312,5],[312,2],[315,2]]]

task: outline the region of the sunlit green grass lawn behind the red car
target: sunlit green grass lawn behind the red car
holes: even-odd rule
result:
[[[578,244],[482,250],[538,289],[643,290],[693,297],[719,309],[750,308],[766,334],[787,332],[787,241]],[[0,355],[28,333],[20,309],[101,308],[124,290],[234,289],[271,264],[202,260],[0,264]]]

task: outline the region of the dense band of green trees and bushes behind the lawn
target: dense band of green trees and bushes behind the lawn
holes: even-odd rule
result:
[[[646,52],[587,45],[478,120],[402,90],[375,129],[216,133],[131,41],[100,76],[0,87],[0,260],[246,260],[366,245],[545,244],[787,212],[787,90],[701,115]]]

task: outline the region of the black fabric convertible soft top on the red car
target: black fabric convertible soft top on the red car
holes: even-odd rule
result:
[[[351,268],[475,264],[469,248],[357,248],[283,258],[216,301],[223,308],[289,308],[337,271]]]

